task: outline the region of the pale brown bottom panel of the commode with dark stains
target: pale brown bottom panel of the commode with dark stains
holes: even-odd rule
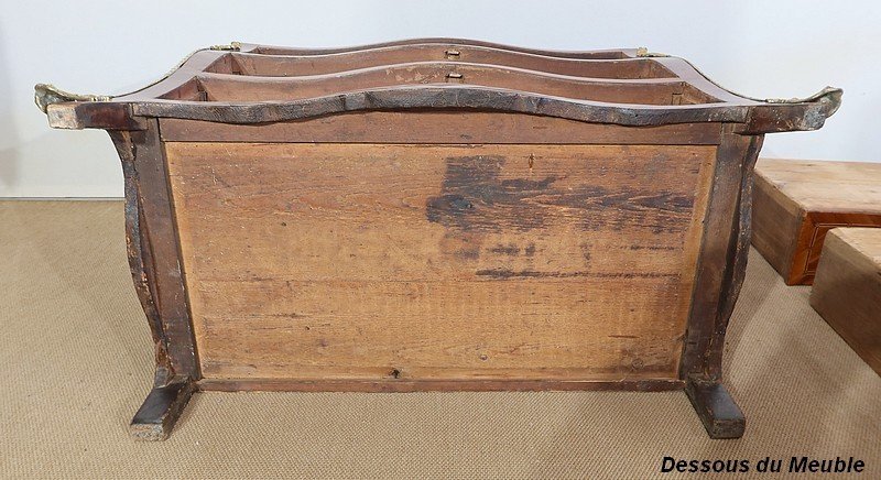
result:
[[[713,146],[166,149],[205,378],[677,377]]]

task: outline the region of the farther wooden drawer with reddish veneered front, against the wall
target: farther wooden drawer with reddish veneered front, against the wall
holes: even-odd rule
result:
[[[813,283],[826,232],[881,227],[881,164],[763,159],[752,242],[787,285]]]

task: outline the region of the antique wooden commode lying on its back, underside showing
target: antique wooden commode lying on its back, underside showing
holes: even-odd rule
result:
[[[232,44],[129,95],[36,87],[52,127],[105,129],[122,160],[146,439],[197,390],[685,390],[739,437],[720,364],[752,166],[840,97],[449,39]]]

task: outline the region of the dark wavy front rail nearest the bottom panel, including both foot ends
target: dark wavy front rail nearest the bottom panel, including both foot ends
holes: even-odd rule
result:
[[[134,117],[180,118],[207,120],[221,123],[265,123],[302,120],[347,111],[412,110],[412,109],[460,109],[503,111],[514,113],[558,117],[570,120],[610,123],[629,127],[650,127],[673,123],[732,122],[744,123],[744,133],[751,130],[750,119],[757,108],[751,105],[624,105],[591,100],[574,100],[519,90],[466,85],[399,86],[308,98],[293,101],[265,102],[211,102],[182,100],[124,101],[73,101],[52,105],[50,122],[55,128],[108,128],[107,122],[95,123],[96,111],[116,111],[130,108]],[[765,106],[760,106],[765,108]],[[815,130],[822,126],[807,123],[811,119],[825,120],[813,110],[817,105],[766,106],[771,109],[760,119],[781,118],[782,124],[762,124],[763,128],[788,128],[791,130]],[[795,109],[792,112],[786,110]],[[66,111],[66,114],[58,114]],[[113,116],[101,114],[107,119]],[[113,117],[115,118],[115,117]],[[796,121],[803,118],[804,121]],[[57,120],[53,122],[53,119]],[[66,119],[66,120],[65,120]],[[70,122],[69,119],[76,119]],[[806,119],[806,120],[805,120]],[[122,126],[120,129],[126,129]],[[772,130],[779,131],[779,130]]]

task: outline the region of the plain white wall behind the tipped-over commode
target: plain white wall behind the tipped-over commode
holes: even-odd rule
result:
[[[6,1],[6,0],[4,0]],[[458,36],[541,48],[648,46],[733,91],[802,97],[842,87],[817,132],[769,135],[763,156],[881,161],[881,3],[851,1],[10,1],[0,17],[0,196],[118,197],[102,131],[51,130],[33,85],[120,94],[193,50],[230,41],[357,45]]]

